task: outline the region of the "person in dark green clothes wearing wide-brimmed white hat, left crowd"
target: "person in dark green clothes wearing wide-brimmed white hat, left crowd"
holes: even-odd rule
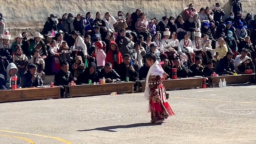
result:
[[[33,38],[33,39],[32,39]],[[43,58],[46,58],[48,53],[46,51],[46,44],[43,42],[41,38],[43,35],[39,32],[34,33],[34,36],[28,41],[28,53],[30,54],[30,58],[34,55],[34,51],[39,49],[39,55]]]

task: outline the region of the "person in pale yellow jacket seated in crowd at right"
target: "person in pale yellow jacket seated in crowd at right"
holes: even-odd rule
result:
[[[215,58],[215,60],[220,60],[221,58],[223,58],[226,53],[228,52],[228,47],[226,46],[226,42],[224,41],[223,38],[219,38],[218,39],[218,44],[219,46],[213,50],[213,52],[217,52],[218,56]]]

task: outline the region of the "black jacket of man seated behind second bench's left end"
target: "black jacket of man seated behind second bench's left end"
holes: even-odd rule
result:
[[[59,70],[54,76],[54,85],[68,85],[73,80],[73,76],[70,71],[64,73],[63,70]]]

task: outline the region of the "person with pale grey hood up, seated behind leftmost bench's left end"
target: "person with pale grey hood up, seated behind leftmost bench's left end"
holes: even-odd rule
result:
[[[17,74],[18,73],[18,69],[17,69],[17,66],[14,64],[14,63],[10,63],[7,68],[6,68],[6,77],[5,77],[5,87],[7,89],[11,89],[11,77],[12,76],[16,76],[17,77]],[[18,79],[17,77],[17,88],[20,87],[20,79]]]

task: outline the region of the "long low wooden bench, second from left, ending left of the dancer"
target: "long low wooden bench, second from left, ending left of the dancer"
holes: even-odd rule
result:
[[[75,85],[64,86],[65,94],[69,94],[69,97],[73,96],[95,96],[95,95],[109,95],[112,92],[121,93],[133,93],[134,82],[123,83],[109,83],[99,85]]]

